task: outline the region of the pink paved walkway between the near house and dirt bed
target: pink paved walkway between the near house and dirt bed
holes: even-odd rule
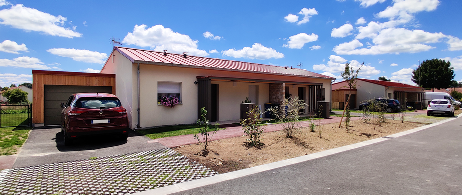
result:
[[[338,123],[340,122],[341,117],[330,117],[328,119],[322,119],[322,124],[329,124],[329,123]],[[352,117],[351,120],[358,120],[360,119],[359,117]],[[343,121],[345,119],[343,118]],[[315,120],[315,124],[319,125],[319,120]],[[309,121],[302,121],[301,122],[302,127],[309,127]],[[264,132],[273,132],[273,131],[279,131],[281,130],[281,124],[274,124],[274,125],[268,125],[265,129]],[[242,127],[227,127],[224,130],[217,131],[216,134],[213,136],[213,140],[220,140],[220,139],[226,139],[226,138],[232,138],[232,137],[239,137],[244,135],[244,132],[242,131]],[[189,135],[179,135],[179,136],[173,136],[173,137],[165,137],[165,138],[158,138],[155,139],[156,141],[159,141],[164,146],[167,146],[169,148],[177,147],[177,146],[182,146],[182,145],[189,145],[189,144],[195,144],[197,143],[197,140],[194,139],[192,134]]]

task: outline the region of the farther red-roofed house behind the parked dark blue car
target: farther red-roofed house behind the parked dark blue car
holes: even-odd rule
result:
[[[424,107],[425,89],[417,86],[358,78],[356,88],[356,90],[352,90],[353,93],[350,97],[352,99],[350,100],[351,109],[358,109],[362,102],[378,97],[397,99],[401,104],[414,105],[414,108],[419,108],[415,106],[415,102],[420,102],[420,108]],[[348,90],[347,81],[332,84],[332,108],[335,108],[336,105],[344,105],[347,102]],[[339,108],[343,109],[340,106]]]

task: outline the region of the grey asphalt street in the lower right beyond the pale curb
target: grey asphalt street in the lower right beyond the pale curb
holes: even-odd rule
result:
[[[462,194],[461,118],[176,194]]]

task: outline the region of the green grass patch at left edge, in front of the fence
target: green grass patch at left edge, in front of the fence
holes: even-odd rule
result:
[[[16,154],[29,136],[30,127],[0,128],[0,155]]]

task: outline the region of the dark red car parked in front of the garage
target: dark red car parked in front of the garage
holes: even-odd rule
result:
[[[119,134],[122,140],[128,137],[127,111],[116,95],[107,93],[72,94],[61,103],[61,131],[64,144],[82,136],[96,134]]]

